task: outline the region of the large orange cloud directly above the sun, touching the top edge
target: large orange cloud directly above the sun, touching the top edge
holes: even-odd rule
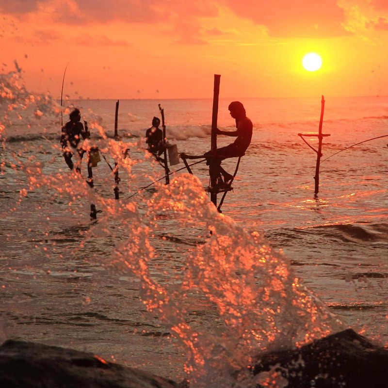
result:
[[[272,37],[325,38],[345,35],[345,14],[337,0],[226,0],[238,16],[262,24]]]

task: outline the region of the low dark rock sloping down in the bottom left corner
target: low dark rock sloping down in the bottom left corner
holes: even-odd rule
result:
[[[92,353],[7,340],[0,346],[0,387],[177,388],[178,384]]]

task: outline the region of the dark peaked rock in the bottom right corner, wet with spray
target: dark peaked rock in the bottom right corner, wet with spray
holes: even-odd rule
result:
[[[286,378],[288,388],[383,388],[388,387],[388,349],[348,329],[299,349],[260,356],[254,374],[268,371]]]

